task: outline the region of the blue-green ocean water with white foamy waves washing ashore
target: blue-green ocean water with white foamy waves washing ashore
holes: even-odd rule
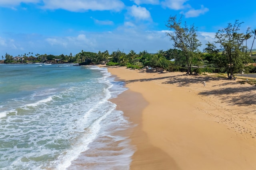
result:
[[[0,169],[129,169],[125,90],[106,68],[0,64]]]

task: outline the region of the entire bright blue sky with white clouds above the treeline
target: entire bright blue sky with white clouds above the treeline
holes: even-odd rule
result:
[[[173,48],[166,21],[181,14],[198,27],[202,50],[235,20],[243,32],[255,29],[255,7],[255,0],[0,0],[0,56],[166,51]]]

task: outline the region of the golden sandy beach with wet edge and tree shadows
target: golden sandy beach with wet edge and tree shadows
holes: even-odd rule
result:
[[[112,102],[136,124],[131,170],[256,169],[255,86],[107,68],[129,88]]]

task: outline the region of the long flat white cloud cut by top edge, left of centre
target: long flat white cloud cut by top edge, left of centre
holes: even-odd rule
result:
[[[73,12],[85,10],[120,11],[124,8],[124,3],[120,0],[44,0],[43,8],[64,9]]]

